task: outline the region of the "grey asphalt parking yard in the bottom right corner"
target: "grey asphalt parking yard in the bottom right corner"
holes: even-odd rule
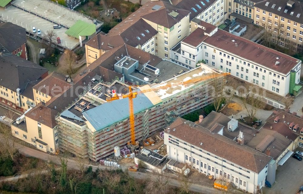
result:
[[[302,151],[302,149],[297,150]],[[303,160],[299,161],[293,157],[288,158],[282,166],[278,166],[276,182],[269,190],[273,193],[279,191],[283,194],[295,194],[303,185],[302,173]]]

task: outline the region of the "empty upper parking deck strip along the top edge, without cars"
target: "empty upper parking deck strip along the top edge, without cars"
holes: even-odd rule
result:
[[[65,25],[68,28],[74,25],[78,20],[85,21],[89,24],[93,23],[92,19],[46,0],[15,0],[12,4],[18,5],[18,7],[24,8],[27,11],[30,10],[33,13],[37,13],[37,15],[42,15],[42,17]],[[99,26],[101,26],[101,23],[97,23],[97,27]]]

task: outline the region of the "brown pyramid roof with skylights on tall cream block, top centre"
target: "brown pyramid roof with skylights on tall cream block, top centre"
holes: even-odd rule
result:
[[[168,1],[160,1],[160,4],[158,5],[162,6],[159,10],[155,10],[149,14],[143,15],[142,18],[166,28],[171,28],[173,25],[177,24],[178,21],[189,15],[188,10],[171,5]],[[169,13],[173,11],[178,13],[176,18],[169,15]]]

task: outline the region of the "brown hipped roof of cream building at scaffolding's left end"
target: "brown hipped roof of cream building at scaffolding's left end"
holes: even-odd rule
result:
[[[46,107],[43,102],[40,102],[32,110],[28,111],[25,116],[38,121],[50,128],[54,128],[57,125],[55,122],[55,116],[57,114],[57,110],[50,109]]]

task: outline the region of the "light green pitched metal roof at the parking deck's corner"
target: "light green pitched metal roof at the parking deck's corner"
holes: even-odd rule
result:
[[[0,0],[1,1],[1,0]],[[72,27],[70,27],[65,34],[79,38],[79,36],[90,36],[96,32],[95,24],[88,24],[85,21],[78,20]]]

